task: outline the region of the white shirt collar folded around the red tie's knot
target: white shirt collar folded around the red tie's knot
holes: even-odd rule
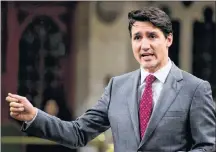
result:
[[[151,74],[154,75],[160,82],[164,83],[169,74],[171,67],[172,67],[172,62],[170,59],[168,59],[168,63],[164,67],[162,67],[155,73],[151,73]],[[145,69],[141,67],[141,84],[143,84],[145,78],[149,74],[150,74],[149,72],[145,71]]]

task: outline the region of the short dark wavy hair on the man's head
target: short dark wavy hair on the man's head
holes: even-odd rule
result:
[[[170,17],[157,7],[145,7],[142,10],[133,10],[128,13],[128,29],[131,36],[131,28],[136,21],[150,22],[159,28],[167,38],[168,34],[173,33]]]

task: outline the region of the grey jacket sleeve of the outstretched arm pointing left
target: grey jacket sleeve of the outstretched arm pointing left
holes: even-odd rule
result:
[[[113,79],[110,80],[95,106],[75,121],[63,121],[38,110],[38,114],[31,125],[27,128],[23,125],[21,130],[28,135],[55,141],[66,147],[85,146],[90,140],[110,127],[108,107],[112,82]]]

